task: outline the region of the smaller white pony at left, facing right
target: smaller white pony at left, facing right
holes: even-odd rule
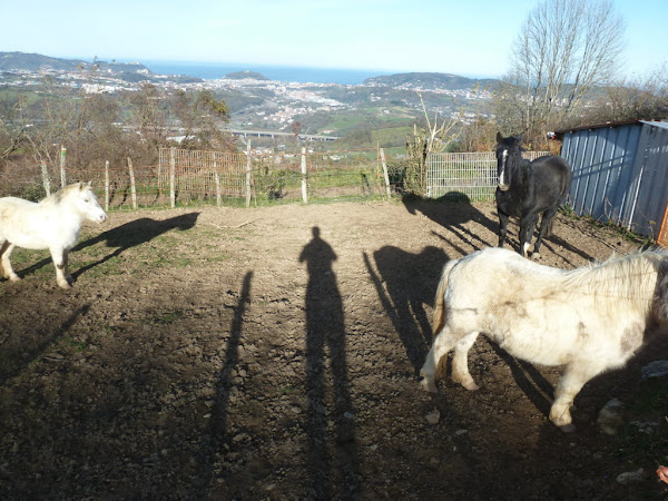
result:
[[[84,220],[102,223],[107,214],[98,204],[90,184],[66,186],[40,203],[22,198],[0,198],[0,264],[2,274],[19,281],[9,262],[14,247],[48,248],[56,266],[56,281],[70,288],[67,269],[69,250],[79,238]]]

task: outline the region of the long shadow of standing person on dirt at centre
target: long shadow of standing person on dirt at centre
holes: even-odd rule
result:
[[[343,299],[332,264],[336,254],[321,237],[317,226],[313,238],[299,254],[306,263],[306,400],[308,435],[308,498],[347,499],[360,494],[354,414],[346,366],[346,340]],[[325,348],[327,351],[325,351]],[[328,362],[328,371],[327,371]],[[330,376],[327,377],[327,372]],[[331,394],[327,395],[327,386]],[[326,443],[333,422],[335,449]],[[332,456],[332,459],[330,459]],[[337,490],[338,492],[333,492]]]

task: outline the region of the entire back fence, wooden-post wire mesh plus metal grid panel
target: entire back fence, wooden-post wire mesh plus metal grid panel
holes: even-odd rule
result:
[[[534,159],[544,153],[525,153]],[[220,153],[163,148],[157,165],[96,168],[20,166],[0,177],[0,196],[39,200],[62,183],[91,181],[110,210],[188,205],[250,206],[285,202],[367,200],[404,189],[406,160],[382,149],[337,153]],[[387,165],[390,164],[390,165]],[[421,193],[449,200],[494,198],[497,160],[492,153],[430,154]]]

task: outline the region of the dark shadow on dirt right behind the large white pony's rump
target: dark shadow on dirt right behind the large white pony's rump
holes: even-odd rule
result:
[[[370,256],[364,253],[363,257],[381,303],[418,374],[433,336],[424,304],[433,303],[448,256],[433,246],[419,254],[386,246],[373,253],[377,273]]]

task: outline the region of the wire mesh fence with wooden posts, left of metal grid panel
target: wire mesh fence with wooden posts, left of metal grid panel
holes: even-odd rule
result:
[[[386,165],[377,150],[265,154],[164,148],[157,165],[106,163],[96,167],[6,168],[0,196],[38,200],[62,184],[91,181],[106,209],[188,205],[258,205],[282,202],[387,197]]]

